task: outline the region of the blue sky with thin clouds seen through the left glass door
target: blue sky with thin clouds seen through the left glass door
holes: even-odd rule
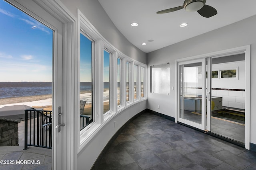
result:
[[[0,82],[52,82],[52,29],[0,0]]]

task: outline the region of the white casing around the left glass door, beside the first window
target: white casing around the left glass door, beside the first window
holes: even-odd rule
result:
[[[62,106],[62,123],[65,123],[65,127],[61,128],[61,134],[58,134],[56,128],[53,130],[53,143],[52,143],[52,169],[54,170],[68,170],[76,169],[76,133],[75,133],[75,117],[76,105],[75,105],[75,57],[76,53],[76,18],[68,11],[68,9],[60,2],[60,0],[6,0],[10,4],[20,8],[27,14],[40,20],[43,23],[50,23],[49,18],[54,18],[62,24],[62,31],[56,31],[57,35],[54,35],[56,40],[54,48],[57,47],[54,55],[57,55],[58,60],[54,59],[54,66],[61,67],[53,68],[53,88],[58,90],[62,89],[61,93],[62,101],[58,102],[56,98],[60,96],[57,93],[53,93],[54,103],[54,115],[58,113],[58,106]],[[46,24],[47,25],[47,24]],[[55,25],[52,23],[52,25]],[[49,25],[48,25],[49,26]],[[53,26],[54,27],[54,26]],[[52,28],[53,28],[52,27]],[[57,29],[55,27],[55,29]],[[59,39],[61,38],[61,40]],[[61,82],[61,84],[54,84],[54,82]],[[55,90],[55,91],[56,91]],[[57,118],[54,119],[53,127],[57,124]],[[58,135],[56,135],[58,134]],[[58,136],[58,137],[57,137]],[[61,138],[61,139],[59,139]],[[61,144],[61,145],[60,145]],[[60,152],[61,151],[61,152]]]

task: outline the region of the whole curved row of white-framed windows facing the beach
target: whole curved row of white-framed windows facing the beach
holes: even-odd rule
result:
[[[78,64],[76,71],[80,73],[80,77],[76,79],[78,80],[77,86],[80,84],[80,89],[78,89],[78,94],[76,95],[80,96],[81,101],[86,100],[85,107],[83,107],[84,111],[81,111],[82,114],[80,115],[82,117],[89,116],[89,120],[86,117],[84,118],[84,125],[82,118],[77,117],[77,127],[79,129],[78,152],[80,152],[97,134],[95,132],[106,125],[104,122],[121,113],[126,106],[129,107],[134,103],[134,94],[132,94],[134,91],[132,89],[134,87],[134,72],[132,69],[135,62],[135,92],[138,96],[142,92],[145,98],[144,90],[146,89],[146,84],[144,82],[146,82],[145,70],[147,66],[122,54],[110,43],[102,39],[102,35],[91,29],[91,23],[79,10],[78,28],[77,31],[81,34],[78,34],[80,37],[80,45],[78,46],[80,50],[78,53],[80,52],[80,55],[76,60]],[[79,39],[79,37],[77,38]],[[96,55],[95,52],[100,53]],[[140,79],[141,64],[144,67],[144,78],[142,80]],[[143,91],[140,90],[141,81],[143,81]],[[80,100],[78,100],[78,103]],[[140,102],[139,97],[136,98],[136,102]],[[83,106],[83,102],[81,104]],[[95,107],[95,104],[97,104],[97,107]],[[99,114],[95,116],[96,113]]]

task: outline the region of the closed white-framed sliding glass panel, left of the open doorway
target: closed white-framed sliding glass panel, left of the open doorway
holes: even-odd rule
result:
[[[178,63],[178,121],[205,130],[205,59]]]

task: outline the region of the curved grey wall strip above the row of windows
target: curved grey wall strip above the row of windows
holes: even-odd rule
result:
[[[68,10],[77,16],[79,9],[100,34],[116,49],[132,59],[146,64],[146,53],[132,45],[116,28],[98,0],[60,0]]]

